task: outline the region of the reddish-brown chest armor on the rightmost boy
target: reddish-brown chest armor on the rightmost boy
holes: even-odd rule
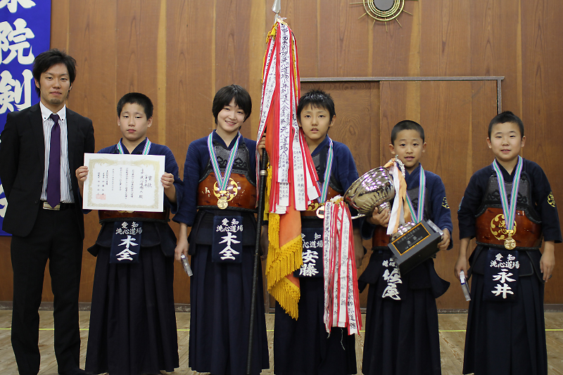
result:
[[[516,241],[517,249],[536,250],[541,245],[541,220],[533,207],[530,182],[524,172],[521,174],[519,184],[512,238]],[[505,183],[505,189],[512,191],[512,183]],[[505,248],[504,241],[508,235],[497,177],[494,174],[489,177],[483,196],[483,202],[476,214],[476,242],[479,245]]]

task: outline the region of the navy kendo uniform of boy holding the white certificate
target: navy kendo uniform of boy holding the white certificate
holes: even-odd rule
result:
[[[99,153],[129,151],[120,141]],[[165,155],[165,172],[174,175],[177,202],[181,201],[182,180],[170,148],[147,138],[133,154]],[[163,212],[99,211],[101,230],[88,249],[97,260],[87,371],[137,375],[179,367],[173,293],[176,236],[168,224],[177,204],[164,195],[164,208]],[[130,246],[123,241],[128,236]]]

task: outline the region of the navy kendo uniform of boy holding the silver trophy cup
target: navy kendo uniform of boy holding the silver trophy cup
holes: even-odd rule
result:
[[[412,220],[431,220],[451,233],[450,207],[438,174],[419,164],[412,173],[405,172],[405,182],[414,211]],[[421,199],[423,217],[419,215]],[[387,227],[362,224],[362,237],[371,238],[373,246],[369,264],[358,280],[360,291],[369,284],[362,372],[441,374],[436,298],[445,293],[450,283],[436,274],[432,258],[400,274],[387,247],[386,231]]]

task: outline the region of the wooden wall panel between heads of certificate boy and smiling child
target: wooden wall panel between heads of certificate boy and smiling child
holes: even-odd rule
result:
[[[180,176],[191,141],[213,129],[211,103],[215,80],[211,63],[214,44],[215,2],[170,1],[167,4],[167,146],[176,157]],[[171,102],[172,103],[172,102]],[[179,225],[171,224],[178,235]],[[176,262],[175,303],[189,303],[189,278]]]

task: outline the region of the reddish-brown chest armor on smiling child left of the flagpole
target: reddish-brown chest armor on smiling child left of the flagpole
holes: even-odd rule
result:
[[[221,172],[224,172],[229,161],[230,151],[213,142],[213,149],[217,156]],[[209,160],[198,184],[197,207],[219,209],[217,200],[220,190],[213,172],[213,165]],[[227,203],[229,210],[255,211],[256,206],[256,177],[250,171],[250,152],[246,143],[241,141],[236,150],[231,177],[227,185]]]

